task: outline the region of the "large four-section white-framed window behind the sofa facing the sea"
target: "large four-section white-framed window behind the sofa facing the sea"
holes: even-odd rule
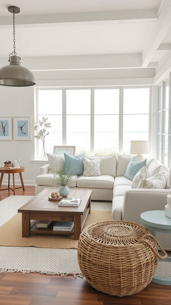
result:
[[[148,140],[150,88],[37,88],[36,121],[48,117],[47,152],[76,145],[76,154],[129,155],[131,140]],[[42,145],[37,140],[36,158]]]

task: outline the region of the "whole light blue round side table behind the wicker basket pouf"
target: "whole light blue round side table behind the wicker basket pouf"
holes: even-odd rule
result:
[[[148,228],[154,237],[156,231],[171,233],[171,218],[165,215],[165,211],[147,211],[142,213],[140,217],[144,227]],[[171,262],[171,257],[166,257],[163,261]],[[171,278],[159,278],[154,276],[152,282],[160,285],[171,285]]]

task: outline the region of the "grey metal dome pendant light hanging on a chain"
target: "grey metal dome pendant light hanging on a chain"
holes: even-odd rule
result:
[[[14,51],[9,54],[9,66],[0,69],[0,85],[10,87],[26,87],[36,84],[33,73],[20,65],[21,58],[16,56],[15,45],[15,14],[20,12],[17,6],[9,6],[8,11],[13,13],[13,42]]]

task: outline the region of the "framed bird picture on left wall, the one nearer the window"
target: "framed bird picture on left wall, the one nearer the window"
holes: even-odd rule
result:
[[[14,140],[31,140],[31,117],[14,117]]]

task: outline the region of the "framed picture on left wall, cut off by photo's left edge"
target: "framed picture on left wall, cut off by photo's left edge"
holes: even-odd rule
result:
[[[0,140],[12,140],[12,117],[0,117]]]

